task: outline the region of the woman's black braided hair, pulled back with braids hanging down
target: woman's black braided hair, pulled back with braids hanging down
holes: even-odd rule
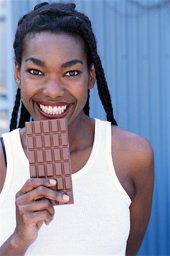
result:
[[[96,71],[97,89],[100,100],[107,113],[107,120],[113,125],[117,125],[113,117],[113,108],[111,95],[108,90],[107,82],[104,76],[104,70],[101,65],[100,57],[97,53],[96,39],[92,31],[91,22],[88,17],[75,10],[74,3],[40,3],[35,8],[25,14],[18,22],[18,28],[14,40],[15,60],[19,67],[22,63],[22,53],[24,51],[24,40],[28,35],[35,35],[41,31],[52,33],[65,33],[73,36],[80,36],[84,42],[84,51],[87,53],[88,67],[94,64]],[[83,111],[89,115],[89,98]],[[12,112],[10,131],[16,129],[18,111],[20,106],[20,89],[17,90],[14,110]],[[24,127],[25,122],[29,121],[30,114],[22,102],[18,127]]]

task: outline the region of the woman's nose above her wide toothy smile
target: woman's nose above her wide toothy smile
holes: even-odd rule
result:
[[[44,96],[56,98],[65,94],[65,88],[62,82],[57,79],[50,79],[46,81],[43,89]]]

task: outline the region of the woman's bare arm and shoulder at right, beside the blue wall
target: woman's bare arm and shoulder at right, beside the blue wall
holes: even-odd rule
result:
[[[134,256],[141,246],[151,213],[154,152],[145,138],[113,126],[112,155],[118,179],[132,200],[126,255]]]

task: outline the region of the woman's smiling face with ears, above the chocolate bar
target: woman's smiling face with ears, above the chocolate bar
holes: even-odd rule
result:
[[[70,124],[82,117],[87,90],[95,81],[82,39],[40,32],[24,42],[20,69],[15,63],[15,81],[34,121],[67,118]]]

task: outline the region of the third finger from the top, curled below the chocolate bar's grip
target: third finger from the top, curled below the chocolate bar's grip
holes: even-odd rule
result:
[[[37,212],[40,210],[47,210],[52,217],[54,216],[54,207],[48,199],[32,201],[26,205],[18,205],[18,212],[20,216],[27,212]]]

